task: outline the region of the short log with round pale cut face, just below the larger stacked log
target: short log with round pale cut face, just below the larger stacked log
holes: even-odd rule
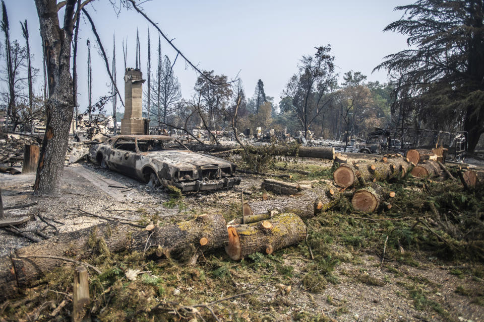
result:
[[[355,191],[351,198],[351,204],[357,211],[375,212],[381,208],[391,209],[392,205],[386,200],[393,197],[395,197],[393,191],[386,190],[376,183],[371,183]]]

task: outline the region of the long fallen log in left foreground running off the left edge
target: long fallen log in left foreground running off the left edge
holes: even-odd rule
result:
[[[222,249],[227,243],[226,222],[218,214],[201,215],[193,220],[164,226],[148,225],[146,229],[117,222],[98,224],[56,235],[20,248],[10,256],[0,257],[0,285],[7,290],[0,294],[0,298],[14,294],[18,288],[28,286],[62,264],[62,261],[51,257],[80,260],[96,254],[109,256],[111,252],[125,250],[144,252],[150,247],[159,246],[160,255],[185,260],[193,255],[190,254],[193,250],[200,248],[206,253]]]

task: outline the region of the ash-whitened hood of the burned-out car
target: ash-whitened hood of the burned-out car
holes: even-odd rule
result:
[[[141,154],[151,157],[153,160],[170,164],[182,171],[198,170],[203,166],[227,168],[233,165],[224,159],[192,151],[167,150],[145,152]]]

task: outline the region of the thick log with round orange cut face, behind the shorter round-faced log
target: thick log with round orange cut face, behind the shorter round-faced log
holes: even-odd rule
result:
[[[358,187],[373,181],[399,180],[413,167],[402,157],[383,157],[377,162],[359,160],[360,163],[342,164],[333,172],[333,179],[341,188]],[[362,180],[358,180],[358,177]]]

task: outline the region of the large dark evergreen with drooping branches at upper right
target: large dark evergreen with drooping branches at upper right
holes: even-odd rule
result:
[[[473,151],[484,133],[484,2],[418,0],[396,10],[403,17],[385,31],[408,35],[411,48],[375,69],[398,74],[394,97],[402,111],[410,107],[427,124],[436,125],[437,115],[462,123]]]

